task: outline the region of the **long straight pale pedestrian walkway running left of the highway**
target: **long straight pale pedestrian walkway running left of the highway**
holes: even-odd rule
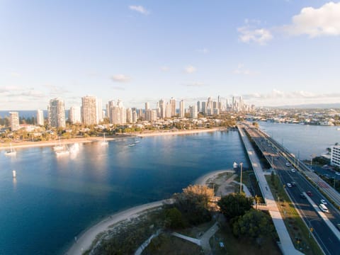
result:
[[[251,166],[254,169],[256,179],[257,181],[259,181],[259,187],[261,189],[263,198],[266,201],[269,214],[271,215],[274,226],[276,228],[276,232],[278,233],[278,237],[280,239],[279,246],[280,246],[282,253],[285,255],[302,254],[300,251],[297,251],[295,249],[293,242],[290,239],[288,230],[285,227],[285,223],[283,222],[283,218],[281,217],[280,211],[278,210],[278,206],[276,205],[276,202],[273,198],[273,194],[271,193],[271,190],[268,188],[268,183],[263,174],[263,169],[261,167],[259,158],[254,152],[254,148],[252,147],[251,142],[249,142],[246,135],[244,135],[244,132],[239,125],[237,125],[237,128],[239,130],[239,135],[241,135],[242,141],[244,143],[244,147],[246,147],[246,152],[248,153]]]

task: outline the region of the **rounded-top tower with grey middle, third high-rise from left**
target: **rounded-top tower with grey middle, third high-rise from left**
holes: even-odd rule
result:
[[[65,106],[64,101],[59,98],[50,100],[47,106],[47,118],[50,128],[65,128]]]

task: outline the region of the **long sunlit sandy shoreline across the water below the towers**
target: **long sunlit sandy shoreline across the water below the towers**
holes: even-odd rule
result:
[[[152,131],[152,132],[133,132],[128,134],[122,135],[115,135],[115,137],[106,137],[106,141],[113,141],[113,140],[121,140],[124,138],[131,138],[131,137],[154,137],[154,136],[162,136],[162,135],[191,135],[195,133],[201,132],[215,132],[218,130],[217,128],[209,128],[209,129],[197,129],[197,130],[162,130],[162,131]],[[103,137],[79,137],[79,138],[71,138],[60,140],[61,145],[69,145],[73,143],[87,143],[87,142],[100,142],[103,140]],[[51,141],[43,141],[43,142],[17,142],[12,143],[13,149],[19,148],[30,148],[30,147],[47,147],[47,146],[55,146],[57,145],[58,140],[51,140]],[[0,150],[2,149],[10,149],[10,144],[0,144]]]

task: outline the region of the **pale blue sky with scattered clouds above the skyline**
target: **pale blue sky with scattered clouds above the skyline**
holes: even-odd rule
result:
[[[340,2],[0,0],[0,110],[340,103]]]

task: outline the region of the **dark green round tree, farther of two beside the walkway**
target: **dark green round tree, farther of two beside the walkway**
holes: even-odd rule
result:
[[[217,203],[227,219],[244,215],[253,205],[253,198],[247,198],[244,193],[232,193],[221,198]]]

